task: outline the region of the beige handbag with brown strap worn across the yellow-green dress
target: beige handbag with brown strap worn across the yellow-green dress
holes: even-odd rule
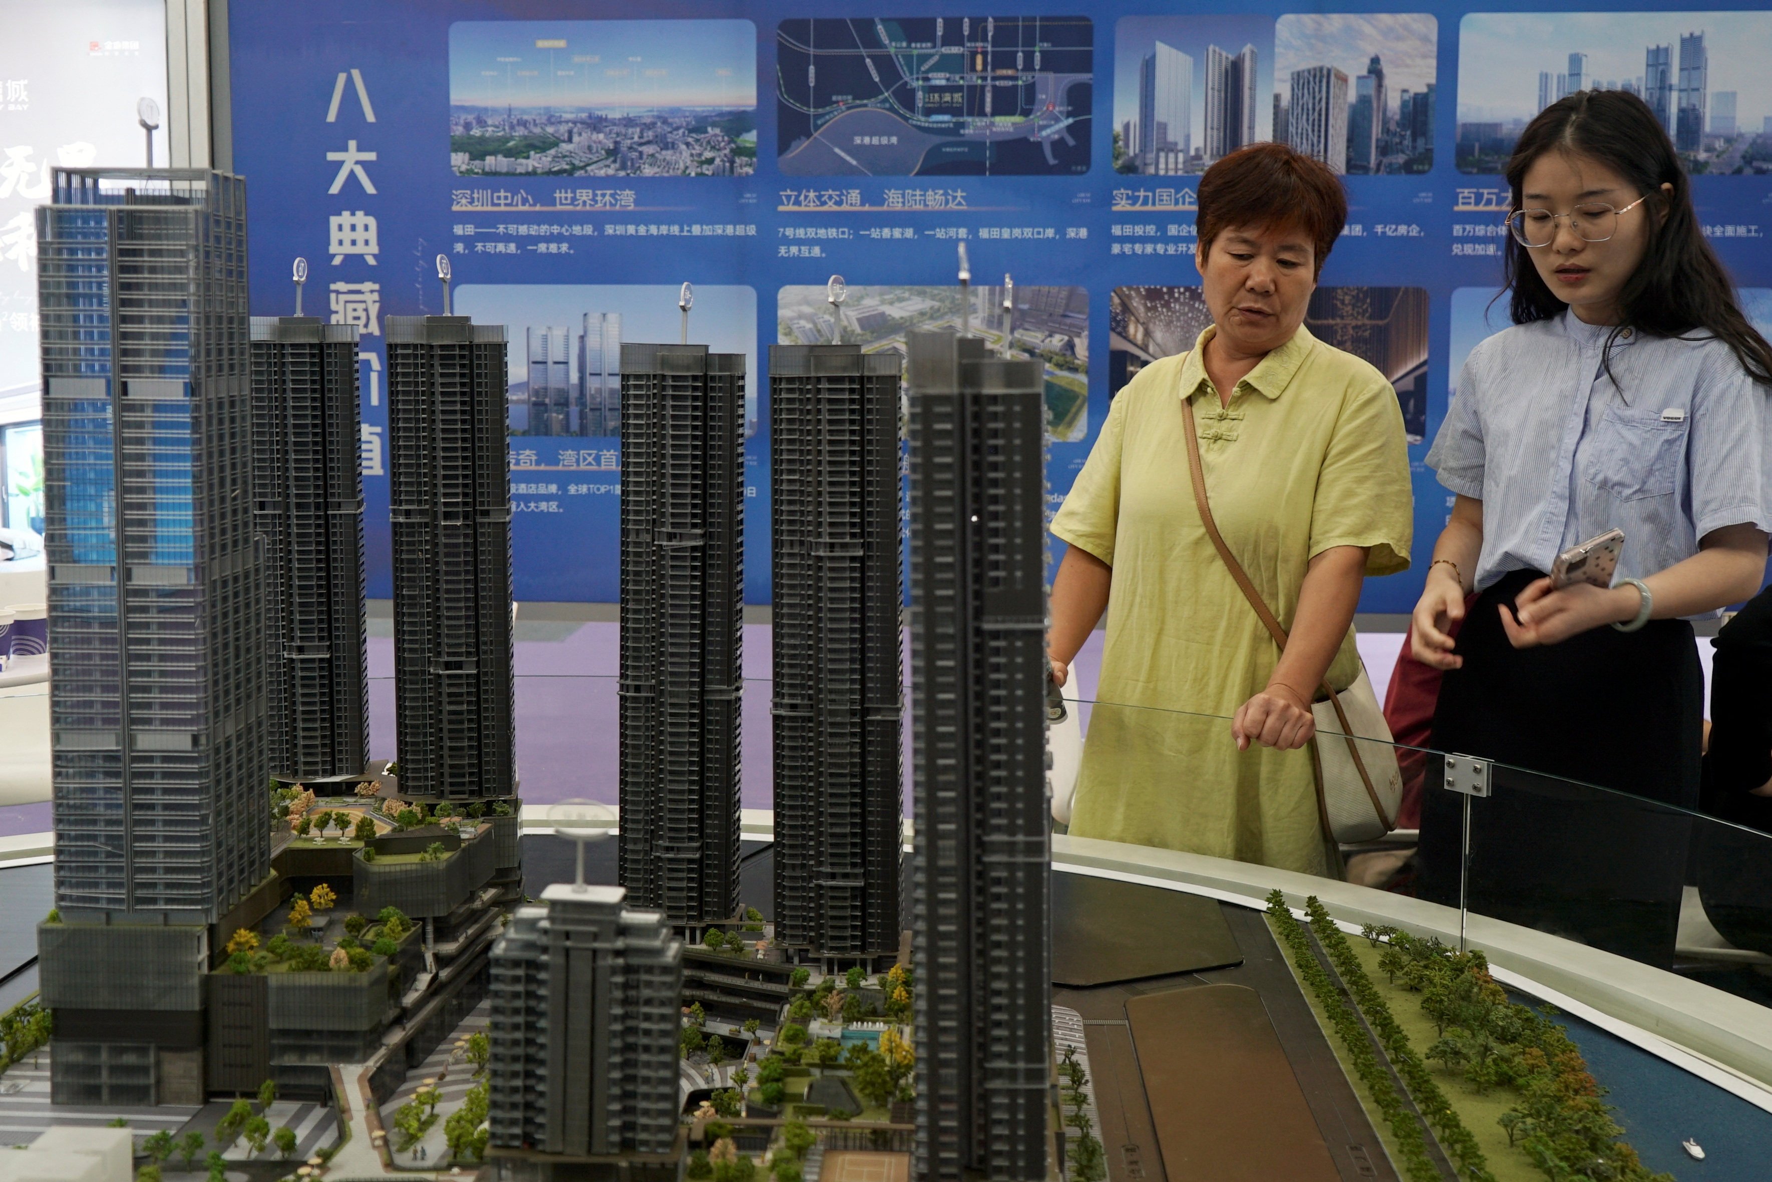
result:
[[[1194,482],[1194,503],[1200,523],[1212,539],[1212,548],[1224,560],[1230,576],[1237,579],[1244,599],[1262,617],[1274,643],[1286,647],[1286,629],[1267,610],[1262,594],[1255,590],[1247,572],[1224,544],[1212,521],[1207,502],[1207,475],[1200,466],[1200,438],[1194,431],[1194,408],[1182,399],[1182,418],[1187,427],[1187,471]],[[1366,663],[1359,663],[1354,684],[1336,693],[1329,682],[1322,686],[1325,700],[1311,704],[1317,719],[1317,737],[1311,739],[1311,764],[1317,769],[1317,812],[1324,831],[1336,842],[1352,845],[1375,842],[1396,828],[1396,810],[1403,799],[1403,774],[1396,767],[1396,748],[1391,746],[1391,727],[1384,721],[1379,695],[1366,677]]]

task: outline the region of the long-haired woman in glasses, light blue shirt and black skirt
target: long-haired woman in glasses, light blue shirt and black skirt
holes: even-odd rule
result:
[[[1414,657],[1446,670],[1432,746],[1694,806],[1690,620],[1765,574],[1772,347],[1643,99],[1550,105],[1508,184],[1513,328],[1471,351],[1426,461],[1457,494],[1412,620]],[[1552,588],[1558,553],[1611,528],[1625,533],[1614,585]],[[1473,808],[1473,909],[1667,962],[1683,817],[1503,769],[1496,782]],[[1421,893],[1457,902],[1458,861],[1457,797],[1430,790]]]

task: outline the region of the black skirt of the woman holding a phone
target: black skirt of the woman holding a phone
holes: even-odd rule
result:
[[[1434,712],[1434,750],[1499,764],[1471,801],[1469,906],[1666,968],[1703,743],[1692,626],[1515,649],[1501,604],[1538,578],[1515,571],[1476,599]],[[1464,797],[1441,785],[1430,769],[1418,893],[1457,906]]]

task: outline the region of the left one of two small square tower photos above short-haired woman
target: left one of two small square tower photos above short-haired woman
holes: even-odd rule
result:
[[[1113,83],[1115,172],[1205,172],[1272,138],[1274,18],[1122,16]]]

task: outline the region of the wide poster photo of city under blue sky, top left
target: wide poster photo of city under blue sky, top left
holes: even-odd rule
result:
[[[750,21],[457,21],[448,57],[455,175],[757,170]]]

